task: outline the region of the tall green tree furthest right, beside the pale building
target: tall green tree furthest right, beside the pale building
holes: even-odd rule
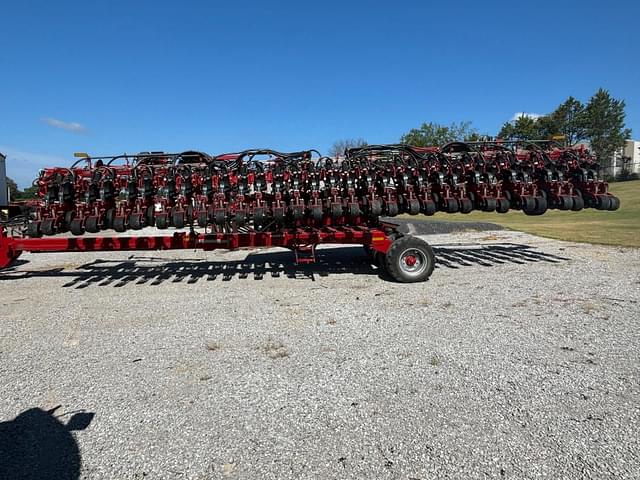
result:
[[[605,167],[611,165],[614,152],[631,136],[631,130],[625,128],[624,107],[624,100],[616,100],[600,88],[584,109],[585,137]]]

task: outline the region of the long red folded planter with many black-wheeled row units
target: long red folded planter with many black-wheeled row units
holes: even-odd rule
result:
[[[615,210],[620,202],[598,169],[585,149],[549,142],[369,145],[340,160],[315,150],[84,156],[41,171],[39,200],[7,211],[0,267],[22,251],[269,246],[312,262],[318,244],[356,243],[395,280],[422,281],[433,271],[431,248],[381,216]],[[189,231],[107,233],[148,226]]]

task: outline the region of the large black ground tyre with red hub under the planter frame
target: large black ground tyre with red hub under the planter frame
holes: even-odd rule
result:
[[[433,272],[435,263],[429,244],[413,236],[395,240],[385,256],[386,271],[401,283],[425,281]]]

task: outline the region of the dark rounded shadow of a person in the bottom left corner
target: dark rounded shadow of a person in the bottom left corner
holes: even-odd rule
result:
[[[87,428],[94,414],[75,413],[65,425],[54,416],[58,408],[31,408],[0,422],[0,479],[79,478],[80,451],[71,432]]]

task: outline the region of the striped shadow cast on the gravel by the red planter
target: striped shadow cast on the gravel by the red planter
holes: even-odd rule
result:
[[[501,264],[535,262],[559,263],[564,257],[539,251],[528,245],[512,243],[491,245],[433,246],[436,267],[451,269],[493,267]],[[233,278],[262,280],[266,276],[315,280],[337,274],[376,275],[388,280],[381,270],[370,264],[362,247],[320,249],[316,263],[295,265],[293,253],[287,251],[250,253],[244,260],[214,261],[176,260],[132,255],[127,260],[95,260],[75,270],[55,268],[40,271],[9,271],[0,281],[25,278],[63,277],[67,288],[89,286],[124,287],[126,285],[160,285],[165,282],[193,284],[199,280],[229,281]]]

